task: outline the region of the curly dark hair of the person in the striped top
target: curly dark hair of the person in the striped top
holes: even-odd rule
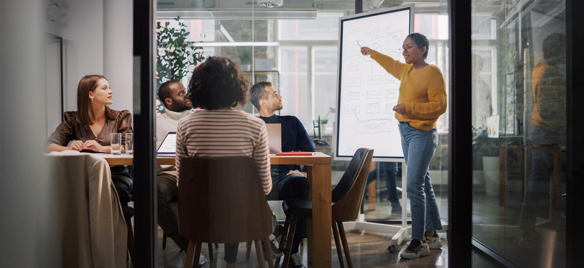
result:
[[[210,56],[193,70],[189,98],[194,107],[217,110],[248,101],[249,82],[231,59]]]

